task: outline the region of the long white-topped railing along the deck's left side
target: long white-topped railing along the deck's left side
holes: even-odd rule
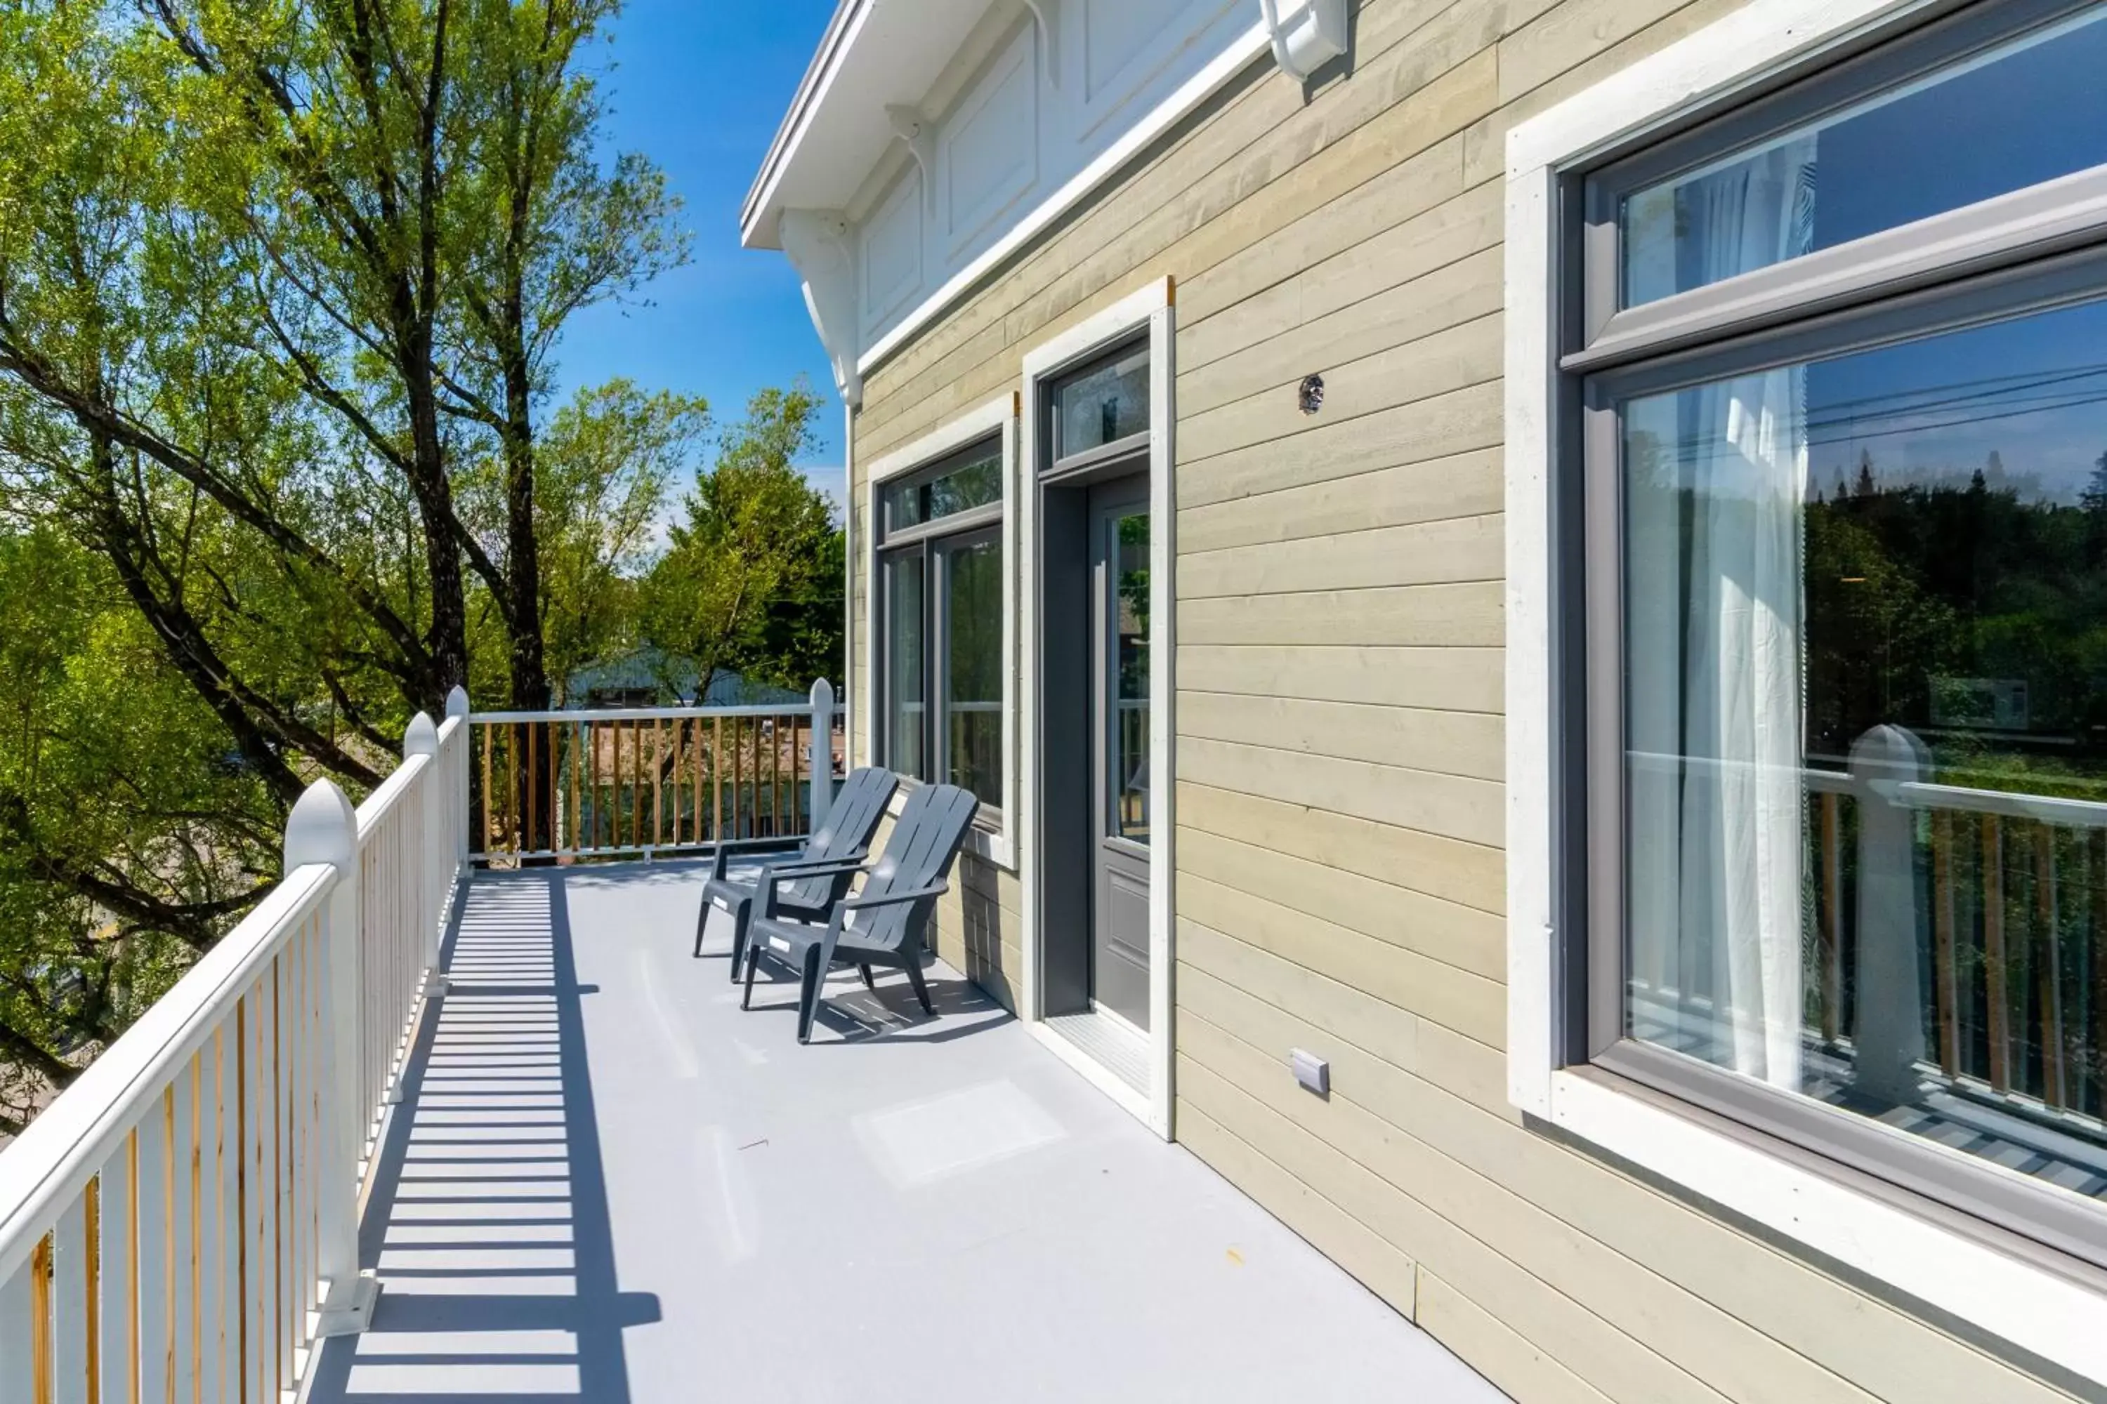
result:
[[[358,1200],[466,876],[468,699],[0,1154],[0,1404],[278,1400],[358,1330]]]

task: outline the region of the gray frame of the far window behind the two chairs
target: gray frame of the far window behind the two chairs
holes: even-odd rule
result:
[[[900,779],[908,785],[929,783],[931,779],[942,779],[944,758],[948,756],[948,707],[944,705],[944,688],[950,682],[950,659],[948,650],[942,648],[944,640],[950,636],[950,619],[946,617],[946,583],[950,556],[963,547],[980,545],[992,541],[997,551],[1003,549],[1003,499],[997,497],[992,503],[982,503],[978,507],[967,507],[965,512],[954,512],[950,516],[931,518],[927,522],[914,522],[912,526],[891,526],[891,512],[887,497],[900,488],[917,488],[938,478],[946,478],[967,463],[980,463],[995,459],[997,465],[1003,463],[1003,438],[1001,434],[990,434],[976,438],[971,444],[946,453],[942,459],[917,467],[910,474],[898,478],[887,478],[879,482],[872,493],[872,518],[874,533],[870,543],[870,589],[877,596],[877,610],[872,619],[879,627],[872,629],[872,693],[877,695],[877,718],[872,726],[872,739],[877,743],[877,760],[881,766],[893,764],[893,671],[891,671],[891,636],[893,636],[893,598],[887,587],[885,566],[904,556],[919,556],[923,562],[923,756],[927,758],[929,775],[906,775]],[[1005,566],[1007,568],[1007,562]],[[1007,783],[1007,777],[1005,777]],[[976,823],[986,829],[1001,829],[1003,813],[1007,808],[1009,796],[1003,796],[1003,804],[988,804],[982,800],[976,813]]]

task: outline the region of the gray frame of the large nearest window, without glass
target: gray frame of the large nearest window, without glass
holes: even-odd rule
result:
[[[1616,309],[1622,194],[1909,82],[2094,0],[1976,4],[1772,84],[1724,116],[1561,175],[1553,444],[1555,884],[1561,1063],[1694,1103],[1884,1181],[1919,1210],[2061,1271],[2107,1267],[2107,1206],[1698,1059],[1624,1038],[1624,642],[1618,404],[1730,375],[2107,299],[2107,166]],[[1957,1210],[1957,1212],[1955,1212]],[[2073,1261],[2075,1259],[2075,1261]]]

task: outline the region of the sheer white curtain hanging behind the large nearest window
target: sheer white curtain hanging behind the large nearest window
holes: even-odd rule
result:
[[[1631,210],[1673,232],[1633,274],[1804,253],[1812,171],[1812,139],[1783,143]],[[1624,410],[1633,1034],[1778,1086],[1799,1084],[1804,408],[1804,373],[1770,370]]]

